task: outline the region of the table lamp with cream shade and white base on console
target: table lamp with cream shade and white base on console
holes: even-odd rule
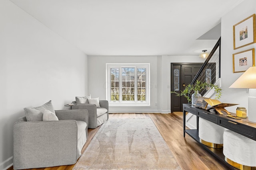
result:
[[[252,66],[244,72],[229,88],[249,88],[248,121],[256,122],[256,67]]]

